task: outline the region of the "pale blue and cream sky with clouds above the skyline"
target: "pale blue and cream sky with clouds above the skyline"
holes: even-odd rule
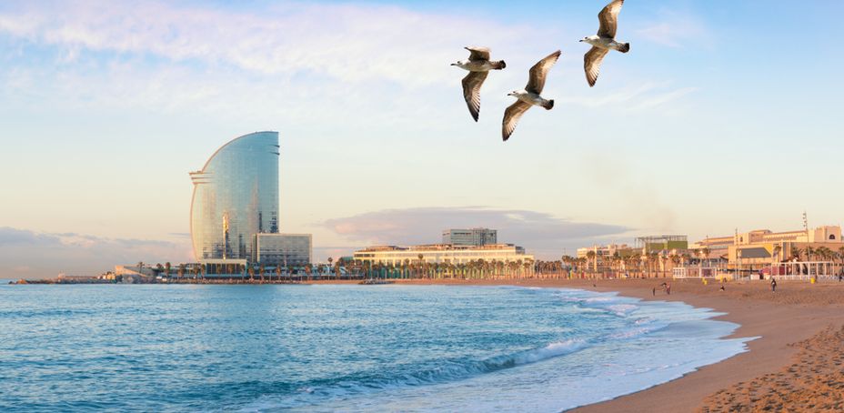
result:
[[[4,1],[0,277],[191,260],[188,172],[280,135],[281,230],[315,258],[493,227],[539,258],[652,234],[840,225],[840,1]],[[507,68],[469,116],[449,65]],[[539,59],[543,95],[501,141]]]

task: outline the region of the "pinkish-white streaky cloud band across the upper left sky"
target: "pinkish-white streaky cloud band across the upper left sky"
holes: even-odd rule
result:
[[[495,22],[397,6],[307,2],[256,12],[166,2],[67,1],[52,7],[26,2],[0,14],[0,32],[61,46],[64,61],[76,61],[86,49],[232,65],[258,74],[313,73],[406,86],[451,82],[452,76],[444,76],[447,62],[462,52],[455,50],[462,45],[456,40],[471,40],[467,34],[484,33],[492,44],[514,44],[527,35]],[[432,62],[444,70],[415,70]]]

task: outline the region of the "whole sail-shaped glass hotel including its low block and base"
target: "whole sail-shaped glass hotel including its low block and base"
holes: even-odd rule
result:
[[[280,234],[278,132],[236,137],[190,173],[190,228],[196,260],[208,274],[249,266],[305,266],[309,234]]]

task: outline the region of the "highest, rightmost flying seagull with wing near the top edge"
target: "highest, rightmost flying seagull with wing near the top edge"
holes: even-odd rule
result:
[[[583,56],[583,69],[586,71],[586,80],[589,87],[595,86],[595,82],[598,81],[601,62],[604,60],[604,56],[609,53],[609,49],[618,50],[621,53],[630,51],[629,43],[618,43],[616,41],[618,12],[621,11],[623,4],[624,0],[613,0],[612,3],[604,7],[598,13],[598,21],[600,22],[598,35],[589,35],[580,40],[592,45],[592,48]]]

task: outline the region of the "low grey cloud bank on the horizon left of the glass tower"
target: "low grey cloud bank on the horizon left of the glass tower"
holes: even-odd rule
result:
[[[116,264],[186,262],[190,241],[106,238],[0,227],[0,277],[96,275]]]

